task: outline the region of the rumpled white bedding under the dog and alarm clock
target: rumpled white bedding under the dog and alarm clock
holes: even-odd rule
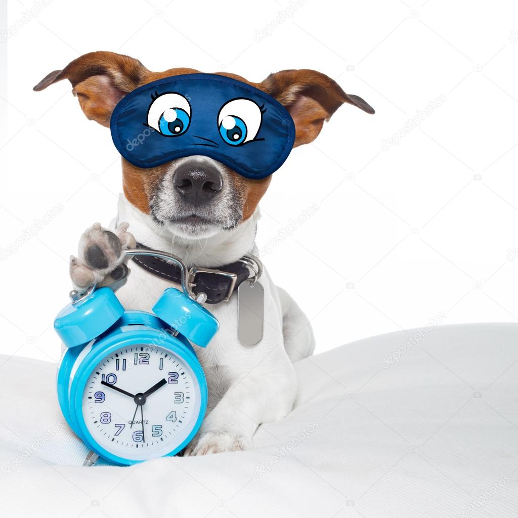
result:
[[[55,368],[0,356],[2,516],[518,516],[518,324],[313,356],[296,364],[294,411],[253,450],[129,468],[81,467]]]

